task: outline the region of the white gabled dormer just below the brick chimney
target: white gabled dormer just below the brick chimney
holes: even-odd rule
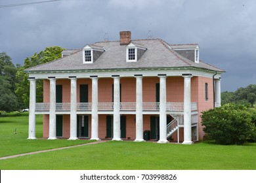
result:
[[[127,62],[138,61],[145,51],[146,51],[146,46],[131,42],[126,46],[126,61]]]

